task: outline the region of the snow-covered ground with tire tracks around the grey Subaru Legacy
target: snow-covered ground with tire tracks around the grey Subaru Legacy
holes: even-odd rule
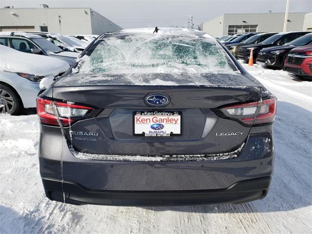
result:
[[[244,66],[278,98],[275,171],[265,199],[168,208],[50,201],[39,176],[37,117],[0,115],[0,234],[311,233],[312,82]]]

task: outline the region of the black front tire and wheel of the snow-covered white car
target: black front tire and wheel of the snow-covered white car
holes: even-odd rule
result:
[[[23,110],[19,95],[10,86],[0,84],[0,114],[17,115]]]

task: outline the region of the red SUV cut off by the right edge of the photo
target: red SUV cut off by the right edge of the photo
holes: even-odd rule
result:
[[[292,49],[286,58],[283,70],[298,77],[312,78],[312,45]]]

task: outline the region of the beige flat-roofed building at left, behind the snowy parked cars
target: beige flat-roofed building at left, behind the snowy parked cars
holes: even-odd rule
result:
[[[42,31],[63,35],[102,34],[122,29],[91,8],[3,8],[0,31]]]

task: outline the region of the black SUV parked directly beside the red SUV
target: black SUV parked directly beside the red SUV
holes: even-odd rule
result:
[[[260,50],[256,63],[263,64],[268,68],[282,69],[288,53],[295,47],[312,43],[312,33],[294,39],[285,45],[272,46]]]

